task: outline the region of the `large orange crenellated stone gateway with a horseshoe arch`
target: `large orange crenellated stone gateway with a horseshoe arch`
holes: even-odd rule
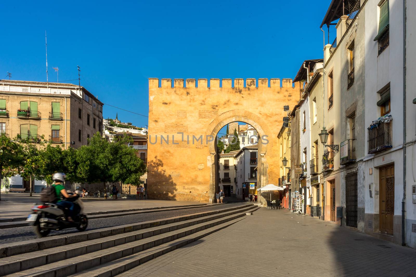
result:
[[[278,184],[280,145],[277,135],[283,105],[300,99],[292,79],[162,79],[149,78],[147,193],[150,199],[212,202],[218,190],[216,136],[226,124],[252,125],[258,143],[258,187]],[[231,131],[230,131],[231,132]],[[264,199],[261,199],[264,201]]]

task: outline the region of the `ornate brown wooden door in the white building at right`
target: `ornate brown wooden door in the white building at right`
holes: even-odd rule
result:
[[[394,165],[379,169],[380,233],[393,234]]]

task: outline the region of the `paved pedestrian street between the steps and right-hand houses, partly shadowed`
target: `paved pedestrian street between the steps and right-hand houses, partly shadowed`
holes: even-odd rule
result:
[[[416,276],[416,250],[317,218],[260,208],[119,276]]]

